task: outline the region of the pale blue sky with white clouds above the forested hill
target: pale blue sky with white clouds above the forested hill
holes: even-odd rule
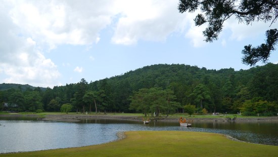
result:
[[[241,51],[264,43],[278,23],[224,22],[206,43],[197,13],[178,0],[0,0],[0,83],[34,87],[88,83],[154,64],[249,69]],[[277,50],[269,62],[278,63]],[[258,63],[256,65],[263,65]]]

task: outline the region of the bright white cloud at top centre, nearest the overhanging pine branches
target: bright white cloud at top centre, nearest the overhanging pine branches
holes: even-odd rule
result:
[[[165,41],[173,32],[180,32],[184,15],[178,13],[178,1],[120,1],[120,17],[112,42],[132,45],[138,40]]]

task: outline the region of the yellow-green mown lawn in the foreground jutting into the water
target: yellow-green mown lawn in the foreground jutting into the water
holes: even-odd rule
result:
[[[100,145],[41,150],[0,156],[277,156],[278,146],[227,139],[224,135],[184,131],[126,132],[123,140]]]

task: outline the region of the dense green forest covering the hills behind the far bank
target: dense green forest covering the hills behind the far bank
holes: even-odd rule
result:
[[[248,70],[220,70],[184,64],[145,66],[122,75],[88,83],[47,88],[1,88],[2,111],[195,112],[277,115],[278,65]]]

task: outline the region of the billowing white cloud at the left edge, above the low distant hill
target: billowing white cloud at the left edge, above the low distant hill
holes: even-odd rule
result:
[[[36,42],[21,33],[9,14],[11,4],[0,6],[0,71],[1,82],[52,87],[59,84],[56,65],[38,50]]]

